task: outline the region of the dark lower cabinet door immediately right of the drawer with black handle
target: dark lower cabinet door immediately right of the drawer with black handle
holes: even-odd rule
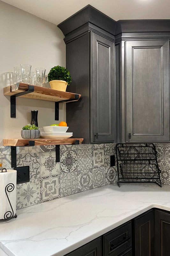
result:
[[[135,219],[135,255],[154,256],[153,211]]]

